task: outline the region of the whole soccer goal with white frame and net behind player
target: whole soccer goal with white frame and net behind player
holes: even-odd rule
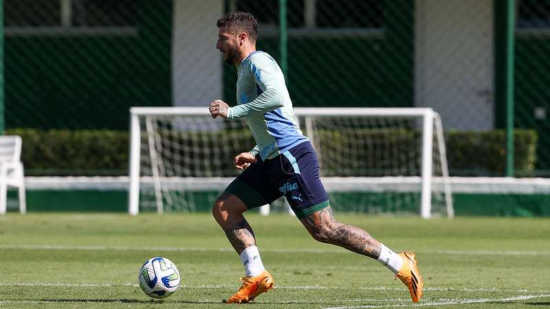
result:
[[[294,108],[336,211],[454,216],[445,143],[431,108]],[[208,209],[255,142],[207,108],[131,108],[129,212]],[[284,198],[271,211],[287,211]]]

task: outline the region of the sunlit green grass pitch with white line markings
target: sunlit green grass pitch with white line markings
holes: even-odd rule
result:
[[[550,307],[550,220],[336,214],[388,247],[417,253],[423,300],[384,266],[313,240],[296,218],[248,220],[276,288],[252,308]],[[148,258],[177,264],[182,286],[162,301],[137,286]],[[225,308],[243,268],[208,214],[0,216],[0,307]]]

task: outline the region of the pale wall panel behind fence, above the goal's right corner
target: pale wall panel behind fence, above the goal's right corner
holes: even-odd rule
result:
[[[494,128],[492,0],[416,0],[415,105],[443,127]]]

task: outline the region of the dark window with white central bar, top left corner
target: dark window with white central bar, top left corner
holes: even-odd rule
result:
[[[4,0],[6,35],[137,34],[137,0]]]

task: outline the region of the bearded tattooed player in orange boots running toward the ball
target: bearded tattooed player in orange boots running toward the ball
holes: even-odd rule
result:
[[[256,141],[252,150],[235,157],[235,167],[243,172],[212,206],[214,218],[245,268],[241,288],[226,301],[246,303],[273,287],[273,277],[263,266],[254,232],[243,212],[281,196],[287,198],[315,240],[377,260],[408,287],[412,301],[419,301],[423,281],[414,253],[395,253],[366,231],[334,219],[319,179],[316,152],[298,128],[283,72],[269,54],[256,51],[258,23],[254,16],[230,12],[217,21],[217,27],[216,48],[225,62],[236,66],[238,105],[229,107],[222,100],[214,100],[210,114],[214,118],[246,118]]]

